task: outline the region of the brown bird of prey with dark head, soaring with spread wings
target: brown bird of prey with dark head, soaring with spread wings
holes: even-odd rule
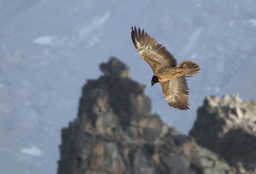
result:
[[[164,97],[169,106],[181,110],[188,107],[188,85],[185,77],[195,76],[200,72],[200,65],[191,60],[177,64],[166,47],[158,43],[153,37],[132,27],[132,42],[140,56],[151,66],[154,75],[151,87],[161,83]]]

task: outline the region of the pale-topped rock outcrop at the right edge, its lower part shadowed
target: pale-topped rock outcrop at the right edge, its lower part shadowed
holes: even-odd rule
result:
[[[205,98],[190,131],[196,141],[218,153],[240,173],[256,173],[256,101],[237,95]]]

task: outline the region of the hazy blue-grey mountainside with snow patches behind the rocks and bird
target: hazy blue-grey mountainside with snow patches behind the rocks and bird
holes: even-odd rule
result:
[[[184,134],[206,95],[256,98],[254,0],[0,0],[0,171],[56,173],[60,129],[77,114],[81,87],[116,56],[146,84],[152,112]],[[145,29],[177,58],[198,62],[189,111],[170,108],[132,44]]]

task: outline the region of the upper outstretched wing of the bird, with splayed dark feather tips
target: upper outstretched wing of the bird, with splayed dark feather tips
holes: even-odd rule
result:
[[[153,37],[145,34],[144,30],[141,33],[140,28],[138,31],[136,27],[132,28],[132,42],[154,72],[163,66],[175,67],[177,65],[177,60],[166,50],[166,47],[162,47]]]

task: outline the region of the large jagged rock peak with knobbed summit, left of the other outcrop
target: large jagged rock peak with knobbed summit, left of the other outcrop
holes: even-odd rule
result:
[[[78,117],[62,130],[58,174],[234,174],[215,153],[151,114],[145,86],[116,58],[83,87]]]

